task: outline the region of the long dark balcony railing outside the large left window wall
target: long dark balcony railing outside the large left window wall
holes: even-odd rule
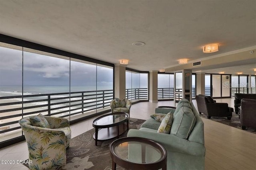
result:
[[[42,113],[69,117],[110,106],[113,90],[0,97],[0,134],[20,129],[18,120]],[[86,116],[86,115],[84,115]]]

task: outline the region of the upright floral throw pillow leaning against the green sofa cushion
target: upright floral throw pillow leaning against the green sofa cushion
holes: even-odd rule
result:
[[[157,132],[170,134],[173,121],[173,113],[168,113],[162,120]]]

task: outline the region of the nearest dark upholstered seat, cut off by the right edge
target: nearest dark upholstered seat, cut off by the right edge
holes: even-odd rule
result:
[[[246,127],[256,128],[256,100],[241,100],[240,122],[243,130],[245,130]]]

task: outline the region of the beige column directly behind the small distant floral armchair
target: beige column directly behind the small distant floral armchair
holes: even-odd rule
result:
[[[115,66],[115,98],[126,98],[125,96],[125,89],[126,89],[126,83],[125,83],[125,67],[121,65]]]

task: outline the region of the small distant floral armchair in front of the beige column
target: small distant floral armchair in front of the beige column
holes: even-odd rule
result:
[[[125,112],[130,115],[130,108],[132,106],[132,102],[128,99],[118,99],[115,98],[110,102],[111,112]]]

